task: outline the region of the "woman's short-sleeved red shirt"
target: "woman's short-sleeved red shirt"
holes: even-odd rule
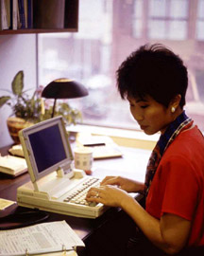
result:
[[[146,211],[192,222],[189,246],[204,246],[204,137],[197,127],[181,132],[161,157],[146,198]]]

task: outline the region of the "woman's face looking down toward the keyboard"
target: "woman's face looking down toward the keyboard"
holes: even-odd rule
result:
[[[161,134],[164,133],[169,123],[174,120],[170,106],[166,108],[150,96],[144,99],[128,97],[127,101],[133,118],[146,135],[153,135],[159,131]]]

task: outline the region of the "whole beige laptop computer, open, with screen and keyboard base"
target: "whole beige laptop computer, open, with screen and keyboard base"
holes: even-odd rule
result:
[[[17,189],[20,206],[86,218],[108,208],[89,204],[86,192],[97,177],[73,168],[73,153],[62,117],[48,119],[19,133],[30,181]]]

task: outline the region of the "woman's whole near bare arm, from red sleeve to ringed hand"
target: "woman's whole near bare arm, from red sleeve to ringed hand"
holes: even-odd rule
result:
[[[97,197],[96,197],[97,195]],[[151,216],[127,192],[112,186],[92,188],[88,201],[120,207],[134,220],[144,235],[168,254],[177,253],[187,243],[191,222],[174,214],[165,213],[158,220]]]

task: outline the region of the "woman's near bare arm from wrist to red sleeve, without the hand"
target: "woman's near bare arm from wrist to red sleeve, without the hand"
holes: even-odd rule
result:
[[[161,220],[158,220],[130,196],[121,202],[121,208],[127,211],[144,235],[166,253],[175,254],[186,245],[191,229],[190,221],[170,213],[164,213]]]

